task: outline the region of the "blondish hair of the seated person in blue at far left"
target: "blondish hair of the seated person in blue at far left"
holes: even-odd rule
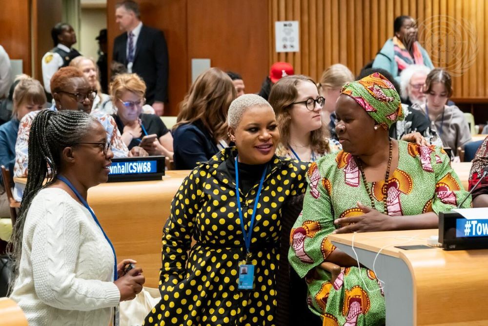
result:
[[[19,81],[19,84],[14,88],[12,116],[17,114],[17,110],[24,103],[33,103],[36,105],[46,104],[47,99],[44,93],[44,87],[42,87],[38,80],[21,74],[15,79],[15,82],[17,81]]]

